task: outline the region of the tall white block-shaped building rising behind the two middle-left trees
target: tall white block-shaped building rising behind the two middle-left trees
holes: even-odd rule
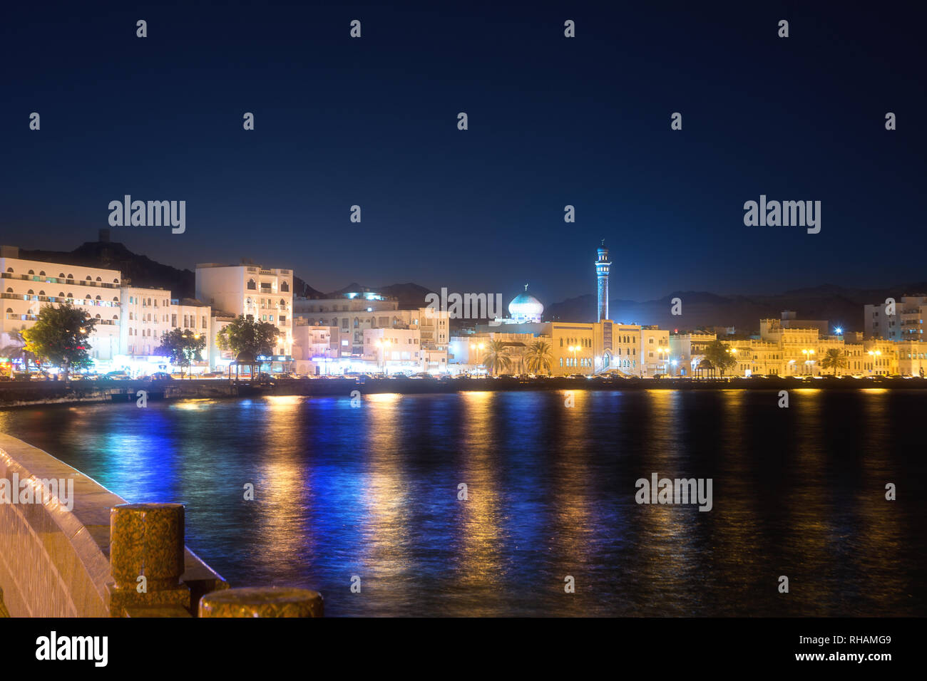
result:
[[[281,365],[292,361],[293,271],[241,265],[197,264],[197,300],[212,308],[267,322],[280,332],[274,356]]]

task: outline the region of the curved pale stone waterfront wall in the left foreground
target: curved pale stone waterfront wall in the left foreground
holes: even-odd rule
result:
[[[131,589],[119,588],[110,564],[110,523],[116,526],[117,519],[137,515],[143,506],[124,504],[125,499],[63,461],[0,434],[0,615],[196,616],[204,594],[228,588],[219,574],[184,548],[179,504],[144,505],[180,510],[175,539],[183,558],[178,552],[172,564],[182,574],[173,576],[175,584],[165,588],[171,580],[155,577],[146,594],[137,591],[134,582]],[[123,546],[131,549],[127,565],[137,559],[143,544],[144,550],[160,549],[144,540],[123,539]],[[147,570],[151,558],[143,559]],[[170,598],[159,597],[167,591]],[[184,598],[178,598],[178,591]]]

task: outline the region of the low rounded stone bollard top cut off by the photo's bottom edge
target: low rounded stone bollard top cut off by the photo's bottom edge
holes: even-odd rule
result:
[[[245,586],[199,599],[200,617],[322,617],[318,591],[295,586]]]

